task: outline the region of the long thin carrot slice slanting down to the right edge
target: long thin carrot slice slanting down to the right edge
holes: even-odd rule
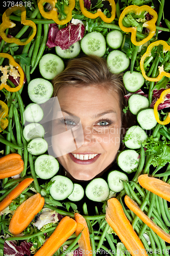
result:
[[[140,220],[147,224],[152,230],[158,234],[167,243],[170,243],[170,234],[166,233],[160,227],[158,227],[144,212],[139,208],[139,206],[128,196],[125,196],[125,203],[132,210],[135,215],[137,215]]]

